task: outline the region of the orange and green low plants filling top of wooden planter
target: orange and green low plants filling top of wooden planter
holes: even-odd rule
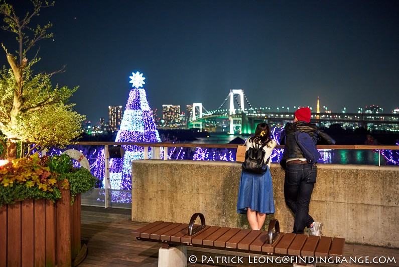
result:
[[[0,206],[16,200],[61,198],[61,189],[70,189],[71,204],[76,194],[89,191],[97,178],[89,170],[74,168],[66,154],[19,158],[0,166]]]

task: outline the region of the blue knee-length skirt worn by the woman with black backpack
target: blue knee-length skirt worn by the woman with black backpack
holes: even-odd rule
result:
[[[248,207],[259,213],[275,213],[272,174],[269,166],[264,174],[241,171],[237,213],[246,214]]]

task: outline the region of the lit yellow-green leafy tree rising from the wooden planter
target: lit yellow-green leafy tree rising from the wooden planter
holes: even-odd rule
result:
[[[42,0],[31,0],[33,10],[19,17],[12,5],[6,0],[0,0],[0,14],[4,17],[2,29],[17,36],[17,56],[9,53],[5,45],[7,61],[11,68],[6,66],[0,70],[0,131],[7,137],[3,140],[3,155],[7,152],[8,159],[17,157],[17,143],[22,141],[28,144],[25,156],[34,149],[42,150],[50,145],[65,145],[80,135],[80,123],[84,116],[72,110],[74,104],[66,101],[77,90],[66,86],[53,86],[50,78],[52,73],[33,72],[32,66],[37,63],[39,49],[28,60],[28,53],[42,39],[53,37],[48,30],[51,23],[44,26],[31,27],[31,20],[39,16],[43,8],[54,6],[53,3]]]

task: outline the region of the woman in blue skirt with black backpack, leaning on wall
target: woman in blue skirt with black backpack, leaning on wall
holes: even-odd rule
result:
[[[269,168],[270,156],[277,143],[270,137],[269,125],[259,123],[254,136],[245,141],[246,153],[238,188],[237,213],[247,215],[252,230],[260,230],[266,215],[275,213],[272,174]],[[262,161],[254,162],[254,155],[261,155]]]

